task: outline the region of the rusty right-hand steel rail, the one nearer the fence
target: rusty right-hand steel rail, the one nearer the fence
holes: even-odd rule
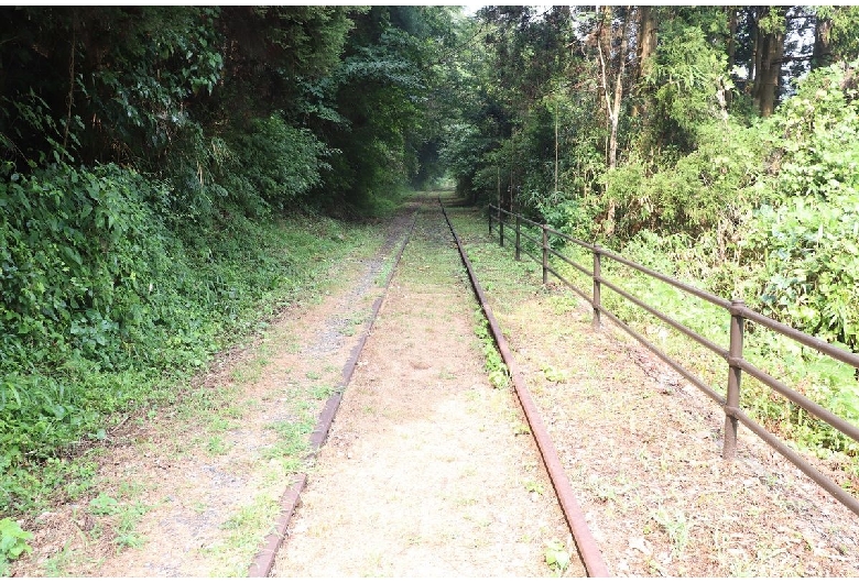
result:
[[[561,457],[558,455],[557,449],[552,442],[552,438],[548,435],[546,426],[543,424],[543,419],[541,418],[540,411],[534,404],[534,399],[525,386],[522,372],[513,359],[513,354],[510,351],[507,339],[501,332],[501,327],[499,326],[498,320],[496,320],[492,308],[489,306],[489,301],[487,300],[486,294],[483,293],[483,288],[480,286],[480,282],[478,280],[477,275],[471,267],[471,262],[468,260],[468,254],[466,253],[459,237],[456,234],[456,230],[450,222],[450,218],[447,216],[447,211],[445,210],[441,197],[438,198],[438,205],[442,207],[442,212],[445,216],[447,226],[450,229],[450,233],[454,235],[454,240],[456,241],[456,245],[459,250],[459,256],[463,258],[463,264],[465,264],[465,267],[468,271],[468,277],[471,280],[471,287],[474,288],[475,295],[477,296],[477,299],[480,302],[480,307],[483,310],[483,315],[489,322],[489,328],[492,332],[492,337],[496,339],[498,351],[501,353],[501,356],[507,364],[508,371],[510,372],[510,377],[513,381],[513,386],[515,388],[517,396],[519,397],[519,403],[522,406],[522,410],[524,411],[525,418],[528,419],[529,426],[531,427],[531,435],[534,436],[534,441],[536,442],[540,454],[543,458],[543,464],[545,465],[546,472],[548,472],[548,476],[552,480],[552,485],[555,488],[555,494],[557,495],[558,502],[561,503],[564,517],[566,518],[567,525],[569,526],[570,532],[573,534],[573,538],[576,541],[576,549],[578,550],[578,554],[581,558],[581,562],[585,564],[585,569],[587,570],[589,576],[610,576],[608,568],[606,566],[606,563],[602,560],[602,556],[599,552],[599,548],[597,547],[597,542],[594,539],[594,535],[588,528],[585,514],[583,513],[581,507],[578,505],[578,502],[576,501],[576,497],[573,493],[573,487],[570,486],[569,479],[567,479],[567,474],[564,471],[563,464],[561,463]]]

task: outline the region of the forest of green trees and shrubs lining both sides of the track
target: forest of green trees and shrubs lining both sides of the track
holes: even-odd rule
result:
[[[307,280],[284,248],[410,188],[859,348],[857,8],[0,11],[2,516]],[[859,420],[853,371],[791,363]]]

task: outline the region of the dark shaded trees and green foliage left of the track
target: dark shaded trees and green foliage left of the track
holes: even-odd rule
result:
[[[456,10],[0,12],[9,514],[62,484],[65,453],[105,439],[118,411],[173,400],[215,351],[312,289],[325,257],[357,242],[320,213],[379,212],[438,174],[424,102]]]

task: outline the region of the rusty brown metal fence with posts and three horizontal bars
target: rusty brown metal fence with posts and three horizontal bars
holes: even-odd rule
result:
[[[513,226],[507,226],[508,217],[514,220]],[[804,474],[806,474],[814,482],[820,485],[820,487],[823,487],[829,494],[831,494],[838,502],[847,506],[856,515],[859,515],[859,499],[855,498],[850,493],[841,488],[829,477],[822,474],[814,465],[812,465],[805,459],[803,459],[803,457],[800,453],[793,450],[785,442],[781,441],[775,435],[771,433],[763,426],[754,421],[740,407],[741,378],[742,378],[742,373],[746,372],[747,374],[751,375],[752,377],[757,378],[764,385],[778,392],[783,397],[787,398],[789,400],[791,400],[792,403],[794,403],[795,405],[797,405],[798,407],[801,407],[802,409],[811,414],[812,416],[816,417],[820,421],[829,424],[830,427],[840,431],[841,433],[849,437],[850,439],[859,441],[859,427],[856,427],[849,421],[836,416],[830,410],[826,409],[825,407],[822,407],[817,403],[807,398],[805,395],[794,391],[793,388],[789,387],[778,378],[773,377],[769,373],[764,372],[763,370],[757,367],[755,365],[753,365],[752,363],[743,359],[742,345],[743,345],[744,324],[747,320],[751,322],[755,322],[757,324],[768,328],[779,334],[791,338],[796,342],[800,342],[839,362],[842,362],[849,366],[853,366],[857,369],[859,369],[859,354],[848,352],[838,346],[824,342],[820,339],[814,338],[809,334],[801,332],[800,330],[791,328],[790,326],[785,326],[779,321],[768,318],[762,314],[759,314],[754,310],[747,308],[742,300],[739,299],[727,300],[718,296],[715,296],[713,294],[709,294],[707,292],[697,289],[691,285],[678,282],[673,277],[668,277],[653,270],[644,267],[643,265],[639,265],[638,263],[634,263],[626,257],[622,257],[617,253],[612,253],[609,250],[602,249],[599,245],[586,243],[585,241],[579,241],[578,239],[574,239],[565,233],[552,229],[547,224],[540,224],[537,222],[526,219],[525,217],[522,217],[521,215],[510,212],[494,205],[489,206],[489,233],[490,234],[492,233],[493,219],[498,223],[499,242],[501,246],[504,245],[504,227],[507,226],[508,228],[512,228],[515,235],[515,258],[520,260],[521,254],[525,253],[533,261],[540,263],[543,267],[543,284],[548,283],[548,274],[552,274],[592,306],[594,308],[592,322],[595,329],[600,328],[600,320],[602,316],[608,317],[617,326],[626,330],[630,336],[635,338],[635,340],[641,342],[651,352],[653,352],[656,356],[659,356],[662,361],[664,361],[668,366],[674,369],[679,375],[682,375],[689,383],[698,387],[705,395],[707,395],[709,398],[711,398],[714,402],[718,403],[721,406],[721,408],[725,411],[725,439],[722,443],[724,458],[732,459],[736,455],[737,429],[738,429],[738,425],[742,424],[748,429],[750,429],[753,433],[755,433],[759,438],[761,438],[764,442],[766,442],[770,447],[772,447],[784,458],[791,461]],[[523,227],[531,227],[540,230],[541,237],[540,238],[532,237],[523,229]],[[574,245],[588,250],[591,253],[594,260],[592,268],[588,270],[587,267],[580,265],[579,263],[570,260],[569,257],[552,249],[552,246],[550,245],[550,235],[554,238],[559,238],[568,243],[573,243]],[[522,245],[523,239],[530,243],[533,243],[533,245],[535,245],[536,249],[540,249],[542,251],[541,253],[542,256],[537,257],[534,254],[532,254],[530,251],[528,251],[528,249],[525,249]],[[587,293],[583,292],[574,284],[568,282],[563,275],[561,275],[551,265],[550,263],[551,256],[557,257],[558,260],[563,261],[567,265],[574,267],[578,272],[589,277],[592,280],[592,285],[594,285],[591,294],[588,295]],[[641,299],[634,297],[632,294],[628,293],[627,290],[622,289],[618,285],[602,277],[601,274],[602,263],[607,258],[616,261],[622,265],[626,265],[649,277],[664,282],[686,294],[696,296],[714,306],[724,309],[730,318],[730,328],[729,328],[730,336],[729,336],[728,348],[726,349],[716,344],[711,340],[705,338],[704,336],[697,333],[696,331],[689,329],[688,327],[677,322],[672,317],[646,305]],[[682,332],[683,334],[691,338],[702,346],[708,349],[716,355],[721,356],[728,364],[728,384],[727,384],[727,391],[725,396],[715,392],[710,386],[708,386],[704,381],[698,378],[694,373],[686,370],[681,363],[678,363],[677,361],[675,361],[674,359],[665,354],[662,350],[660,350],[653,343],[648,341],[641,333],[633,330],[624,321],[622,321],[611,311],[606,309],[601,300],[601,294],[604,287],[610,289],[611,292],[615,292],[622,298],[629,300],[633,305],[642,308],[646,312],[659,318],[670,327]]]

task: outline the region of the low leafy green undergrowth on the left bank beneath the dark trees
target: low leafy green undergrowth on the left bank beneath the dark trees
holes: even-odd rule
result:
[[[376,237],[226,205],[178,232],[154,210],[167,189],[113,165],[0,184],[0,516],[72,495],[69,453],[128,411],[175,403],[219,350]]]

